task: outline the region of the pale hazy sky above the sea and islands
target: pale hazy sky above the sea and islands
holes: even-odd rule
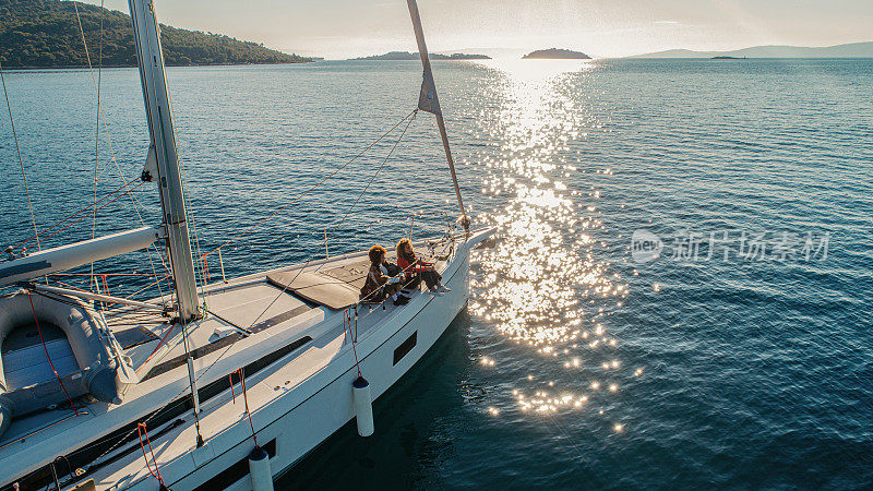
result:
[[[101,0],[87,0],[100,4]],[[125,0],[103,0],[128,11]],[[686,48],[873,40],[873,0],[419,0],[431,51],[567,48],[620,57]],[[415,51],[405,0],[155,0],[158,20],[286,52]],[[480,50],[482,50],[480,49]]]

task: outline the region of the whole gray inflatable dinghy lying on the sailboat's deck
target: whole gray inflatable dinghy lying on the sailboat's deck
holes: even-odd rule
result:
[[[68,404],[67,394],[120,404],[134,379],[112,332],[81,300],[0,297],[0,436],[13,418]]]

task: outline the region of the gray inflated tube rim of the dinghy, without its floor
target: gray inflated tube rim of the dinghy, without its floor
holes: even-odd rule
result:
[[[41,328],[46,328],[44,325],[55,325],[63,331],[79,369],[61,374],[63,387],[53,376],[26,386],[11,387],[3,370],[4,360],[0,357],[0,438],[12,418],[65,403],[64,388],[73,399],[91,394],[104,403],[121,404],[127,386],[135,383],[128,375],[134,373],[130,360],[122,356],[112,332],[101,320],[93,316],[81,300],[65,297],[61,301],[34,292],[29,299],[27,297],[26,290],[0,297],[0,351],[10,333],[34,325],[36,314]],[[47,363],[47,360],[44,362]]]

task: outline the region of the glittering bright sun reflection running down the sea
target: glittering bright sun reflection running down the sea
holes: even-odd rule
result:
[[[602,259],[602,242],[596,239],[602,232],[600,192],[585,188],[577,170],[585,157],[573,151],[589,132],[602,131],[585,97],[574,91],[578,77],[596,67],[536,67],[543,68],[504,70],[499,118],[482,130],[503,142],[500,155],[486,163],[482,192],[503,196],[506,205],[483,217],[499,227],[500,240],[481,258],[483,274],[474,283],[479,299],[469,311],[548,363],[540,363],[539,374],[525,374],[512,391],[521,411],[584,410],[598,402],[603,414],[602,399],[614,397],[622,379],[639,376],[642,369],[624,370],[615,358],[618,340],[607,325],[627,285]],[[493,367],[499,361],[489,356],[480,362]],[[542,376],[555,369],[565,375],[558,386]],[[624,424],[610,420],[608,428],[620,432]]]

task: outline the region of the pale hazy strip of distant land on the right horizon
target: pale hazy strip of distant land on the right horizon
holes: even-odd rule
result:
[[[730,58],[716,58],[730,57]],[[629,58],[873,58],[873,41],[849,43],[845,45],[804,46],[752,46],[732,51],[694,51],[691,49],[668,49]]]

